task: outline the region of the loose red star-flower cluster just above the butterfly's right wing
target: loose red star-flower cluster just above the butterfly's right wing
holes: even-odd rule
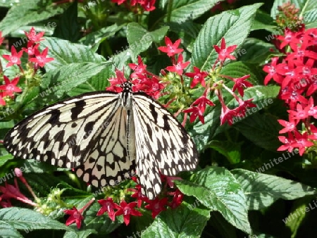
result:
[[[173,66],[168,66],[166,68],[166,70],[180,75],[180,80],[183,84],[184,80],[182,77],[182,73],[183,73],[183,70],[187,67],[187,65],[189,65],[189,61],[187,61],[185,63],[182,62],[183,57],[182,57],[182,54],[180,54],[180,53],[183,50],[178,49],[178,46],[180,45],[180,39],[178,39],[173,44],[173,42],[171,42],[170,39],[168,37],[166,37],[165,42],[166,42],[166,46],[160,46],[158,49],[164,53],[167,53],[167,55],[169,57],[171,57]],[[237,46],[226,47],[225,46],[225,39],[221,40],[220,47],[219,46],[213,46],[213,47],[216,50],[216,52],[218,53],[218,58],[217,58],[216,62],[214,63],[212,70],[215,70],[216,64],[219,62],[220,62],[219,67],[221,68],[223,66],[223,63],[225,62],[225,60],[227,58],[230,60],[235,59],[235,56],[232,56],[231,54],[233,51],[235,51],[235,48]],[[178,54],[177,62],[175,60],[176,54]],[[197,86],[197,84],[201,84],[201,86],[204,87],[205,90],[204,90],[204,93],[197,100],[195,100],[190,105],[189,108],[187,108],[183,111],[184,113],[190,113],[189,120],[191,123],[194,122],[194,120],[196,120],[196,118],[199,118],[201,123],[204,123],[204,112],[206,110],[206,105],[209,105],[209,106],[215,105],[215,104],[213,104],[212,101],[210,101],[208,99],[208,94],[211,91],[211,89],[215,89],[216,95],[218,96],[219,101],[220,101],[222,108],[223,108],[223,111],[222,111],[221,116],[220,116],[221,124],[225,123],[225,121],[228,121],[228,123],[231,125],[233,117],[243,116],[246,112],[247,107],[254,107],[255,106],[254,104],[251,104],[249,102],[249,101],[251,101],[251,99],[249,99],[247,101],[243,101],[242,99],[237,97],[234,93],[234,91],[237,89],[239,94],[241,96],[243,96],[244,95],[244,88],[253,86],[250,82],[245,81],[249,77],[249,75],[246,75],[246,76],[241,77],[241,78],[232,78],[232,77],[228,77],[225,75],[220,75],[221,77],[228,78],[228,79],[235,82],[233,89],[230,90],[230,89],[228,89],[228,87],[225,87],[223,82],[213,82],[212,81],[213,80],[212,79],[212,73],[213,73],[212,70],[211,70],[211,73],[207,73],[206,71],[201,71],[201,69],[197,68],[196,66],[194,66],[193,69],[194,69],[194,72],[185,73],[185,75],[187,77],[192,78],[192,82],[190,84],[190,87],[194,88]],[[211,79],[209,80],[209,78],[211,78]],[[209,83],[206,84],[206,80],[209,80],[208,81]],[[213,87],[210,87],[211,82],[213,82]],[[221,87],[227,89],[230,92],[230,94],[232,94],[232,96],[234,96],[234,98],[237,99],[237,101],[239,102],[239,106],[237,108],[231,110],[225,105],[225,101],[223,100],[223,96],[222,96],[221,91],[220,91]],[[185,118],[186,118],[186,114],[185,114]],[[184,120],[185,120],[185,118],[184,118]]]

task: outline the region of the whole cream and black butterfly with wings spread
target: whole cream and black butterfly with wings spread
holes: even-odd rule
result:
[[[135,173],[141,192],[161,192],[160,173],[194,170],[198,152],[184,127],[144,92],[90,92],[46,106],[16,124],[4,138],[6,149],[72,168],[94,187],[114,186]]]

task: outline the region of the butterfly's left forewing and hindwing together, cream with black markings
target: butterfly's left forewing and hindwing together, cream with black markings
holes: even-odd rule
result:
[[[75,168],[85,182],[104,187],[135,175],[126,130],[120,94],[93,92],[25,118],[6,134],[4,146],[13,156]]]

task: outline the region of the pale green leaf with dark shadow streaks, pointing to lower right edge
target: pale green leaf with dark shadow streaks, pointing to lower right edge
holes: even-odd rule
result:
[[[315,189],[282,177],[243,169],[231,170],[231,173],[240,182],[244,190],[249,210],[266,208],[278,199],[293,200],[316,194]]]

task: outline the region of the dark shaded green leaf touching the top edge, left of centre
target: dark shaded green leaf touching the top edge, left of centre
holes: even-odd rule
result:
[[[54,30],[53,37],[67,39],[75,42],[80,37],[80,26],[77,23],[77,1],[74,1],[61,15],[60,20]]]

